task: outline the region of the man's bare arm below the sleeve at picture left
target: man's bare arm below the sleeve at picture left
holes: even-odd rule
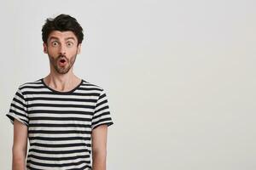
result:
[[[13,170],[26,169],[27,127],[14,121]]]

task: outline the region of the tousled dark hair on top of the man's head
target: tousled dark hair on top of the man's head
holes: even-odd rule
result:
[[[73,31],[79,43],[82,43],[84,39],[83,28],[75,18],[68,14],[60,14],[54,19],[48,18],[45,20],[42,28],[42,39],[44,43],[47,43],[51,31]]]

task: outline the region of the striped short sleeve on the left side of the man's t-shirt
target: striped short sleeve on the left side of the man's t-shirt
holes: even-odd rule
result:
[[[18,88],[16,91],[15,97],[10,104],[9,113],[6,114],[6,116],[9,117],[9,120],[12,124],[14,124],[16,119],[17,121],[22,122],[28,126],[27,104],[20,88]]]

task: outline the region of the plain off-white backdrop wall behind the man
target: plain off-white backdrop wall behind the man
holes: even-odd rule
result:
[[[0,167],[21,83],[49,73],[44,20],[71,14],[85,39],[74,72],[106,89],[108,170],[256,169],[253,0],[2,1]]]

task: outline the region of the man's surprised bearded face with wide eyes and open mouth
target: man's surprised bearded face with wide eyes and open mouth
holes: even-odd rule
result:
[[[66,74],[73,67],[80,48],[73,31],[52,31],[47,44],[44,43],[44,53],[49,56],[50,66],[59,74]]]

